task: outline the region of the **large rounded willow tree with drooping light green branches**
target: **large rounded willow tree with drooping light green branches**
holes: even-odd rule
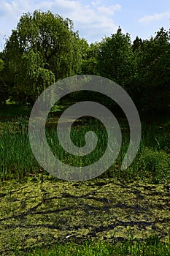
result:
[[[4,49],[13,98],[34,102],[55,80],[76,74],[81,62],[78,42],[69,18],[50,11],[24,14]]]

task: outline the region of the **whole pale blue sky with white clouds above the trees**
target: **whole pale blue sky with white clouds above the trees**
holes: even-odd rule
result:
[[[120,26],[123,32],[142,39],[154,36],[162,26],[170,28],[169,0],[0,0],[0,50],[24,12],[58,13],[74,22],[74,30],[88,42],[109,37]]]

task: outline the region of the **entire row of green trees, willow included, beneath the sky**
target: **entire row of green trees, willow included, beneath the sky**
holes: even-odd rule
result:
[[[101,75],[128,91],[137,108],[155,114],[170,104],[170,30],[131,42],[117,29],[88,44],[72,20],[51,12],[24,14],[0,53],[0,104],[33,104],[50,84],[71,75]],[[81,94],[80,94],[81,95]]]

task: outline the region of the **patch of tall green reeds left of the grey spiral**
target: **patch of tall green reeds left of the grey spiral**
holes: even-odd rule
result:
[[[35,172],[38,164],[31,153],[28,129],[24,124],[7,124],[0,140],[0,177],[21,178]]]

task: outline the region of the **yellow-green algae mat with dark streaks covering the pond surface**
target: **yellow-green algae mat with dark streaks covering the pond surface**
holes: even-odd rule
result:
[[[0,254],[86,239],[169,239],[169,184],[85,182],[39,176],[4,181],[0,190]]]

